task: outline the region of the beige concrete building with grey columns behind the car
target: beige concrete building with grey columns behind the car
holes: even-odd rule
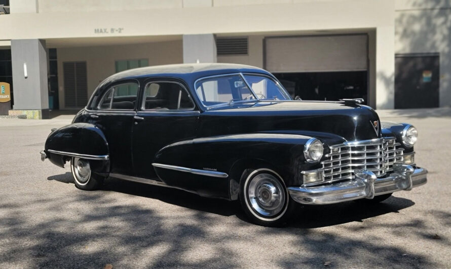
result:
[[[451,104],[447,0],[0,0],[2,9],[0,82],[12,84],[12,109],[41,117],[84,107],[116,72],[196,61],[264,68],[303,99]]]

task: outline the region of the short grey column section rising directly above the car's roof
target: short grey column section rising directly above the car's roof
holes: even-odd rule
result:
[[[212,33],[183,35],[183,62],[217,62],[216,42]]]

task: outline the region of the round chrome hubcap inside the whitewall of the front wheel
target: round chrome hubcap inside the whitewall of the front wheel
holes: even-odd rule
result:
[[[271,217],[284,206],[285,192],[279,180],[271,174],[259,174],[249,182],[248,197],[252,208],[259,214]]]

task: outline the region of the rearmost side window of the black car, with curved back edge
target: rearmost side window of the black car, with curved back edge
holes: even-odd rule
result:
[[[137,83],[124,83],[109,88],[100,100],[101,110],[134,110],[138,96]]]

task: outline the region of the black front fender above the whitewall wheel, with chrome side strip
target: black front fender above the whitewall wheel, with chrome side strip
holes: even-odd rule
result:
[[[200,188],[190,190],[204,196],[231,198],[229,186],[240,180],[233,168],[240,160],[251,160],[249,165],[270,165],[281,174],[287,185],[298,180],[296,176],[305,163],[304,145],[310,138],[281,133],[246,133],[182,141],[161,149],[156,155],[156,163],[226,173],[228,177],[192,176],[184,173],[185,171],[177,174],[173,170],[157,166],[155,170],[168,185],[183,189]],[[192,181],[197,184],[193,185],[193,182],[185,180],[187,176],[192,177]],[[231,180],[235,182],[231,183]],[[209,190],[212,193],[203,193]]]

